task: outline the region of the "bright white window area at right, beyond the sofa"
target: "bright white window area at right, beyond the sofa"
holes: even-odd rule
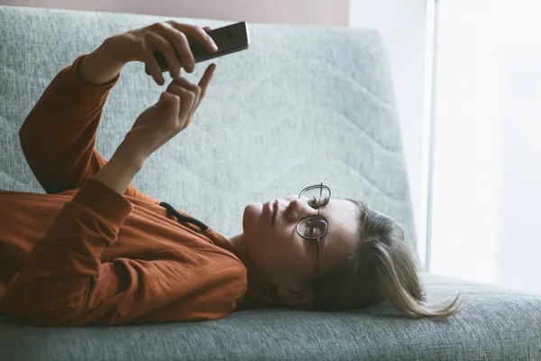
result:
[[[541,293],[541,3],[438,3],[430,271]]]

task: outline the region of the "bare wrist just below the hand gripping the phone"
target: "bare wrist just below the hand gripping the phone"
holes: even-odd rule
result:
[[[123,62],[115,60],[109,42],[105,40],[95,51],[81,60],[77,75],[81,81],[99,87],[113,81],[124,65]]]

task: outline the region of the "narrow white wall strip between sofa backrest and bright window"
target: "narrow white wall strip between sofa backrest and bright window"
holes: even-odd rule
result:
[[[423,120],[426,0],[350,0],[350,27],[380,30],[390,53],[419,251],[424,256]]]

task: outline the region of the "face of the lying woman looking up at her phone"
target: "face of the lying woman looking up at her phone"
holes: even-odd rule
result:
[[[274,224],[272,202],[252,203],[244,208],[243,247],[267,280],[277,286],[301,289],[316,277],[316,241],[298,236],[298,221],[317,215],[307,199],[291,195],[278,200]],[[328,233],[319,241],[319,271],[333,271],[355,249],[358,241],[358,213],[349,200],[329,199],[319,209],[327,219]]]

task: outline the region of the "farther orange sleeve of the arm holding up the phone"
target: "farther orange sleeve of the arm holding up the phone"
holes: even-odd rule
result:
[[[103,86],[83,82],[77,69],[86,56],[60,70],[19,130],[26,161],[49,194],[81,187],[107,162],[94,147],[96,131],[109,91],[120,74]],[[145,198],[133,184],[124,194]]]

